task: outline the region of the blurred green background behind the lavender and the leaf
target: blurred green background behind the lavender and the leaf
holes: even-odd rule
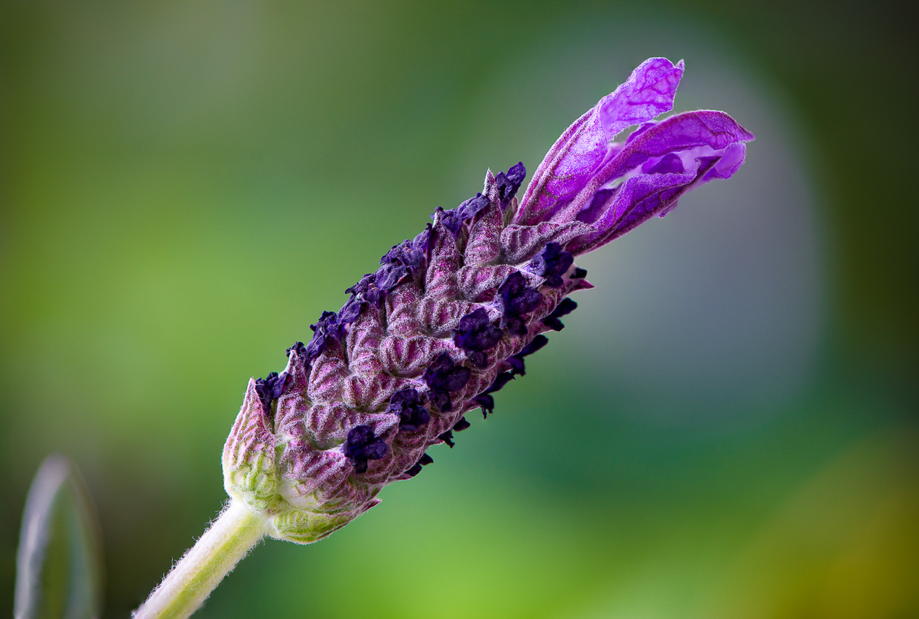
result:
[[[586,256],[494,417],[200,616],[919,616],[905,7],[4,2],[0,608],[44,456],[128,616],[219,510],[248,377],[664,55],[677,110],[757,134],[743,170]]]

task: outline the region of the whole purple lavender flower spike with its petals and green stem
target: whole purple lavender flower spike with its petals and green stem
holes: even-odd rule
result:
[[[576,256],[686,191],[729,178],[754,135],[727,114],[673,108],[683,62],[642,62],[552,146],[522,199],[523,163],[437,208],[414,239],[346,289],[294,343],[287,366],[250,380],[223,449],[230,501],[136,616],[193,613],[264,536],[310,544],[433,462],[427,450],[494,411],[494,393],[561,331],[590,288]],[[628,138],[614,139],[636,126]]]

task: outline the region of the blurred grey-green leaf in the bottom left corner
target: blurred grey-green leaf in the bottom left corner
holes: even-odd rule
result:
[[[83,480],[48,456],[28,490],[17,555],[16,619],[80,619],[101,611],[102,554]]]

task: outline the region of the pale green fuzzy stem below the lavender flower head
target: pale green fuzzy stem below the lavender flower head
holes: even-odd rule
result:
[[[266,534],[265,514],[230,501],[210,528],[169,570],[134,617],[187,617]]]

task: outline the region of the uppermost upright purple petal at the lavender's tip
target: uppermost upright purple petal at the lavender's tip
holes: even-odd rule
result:
[[[539,164],[515,223],[532,225],[563,208],[608,159],[609,142],[622,129],[673,109],[682,75],[683,61],[646,60],[624,84],[578,118]]]

